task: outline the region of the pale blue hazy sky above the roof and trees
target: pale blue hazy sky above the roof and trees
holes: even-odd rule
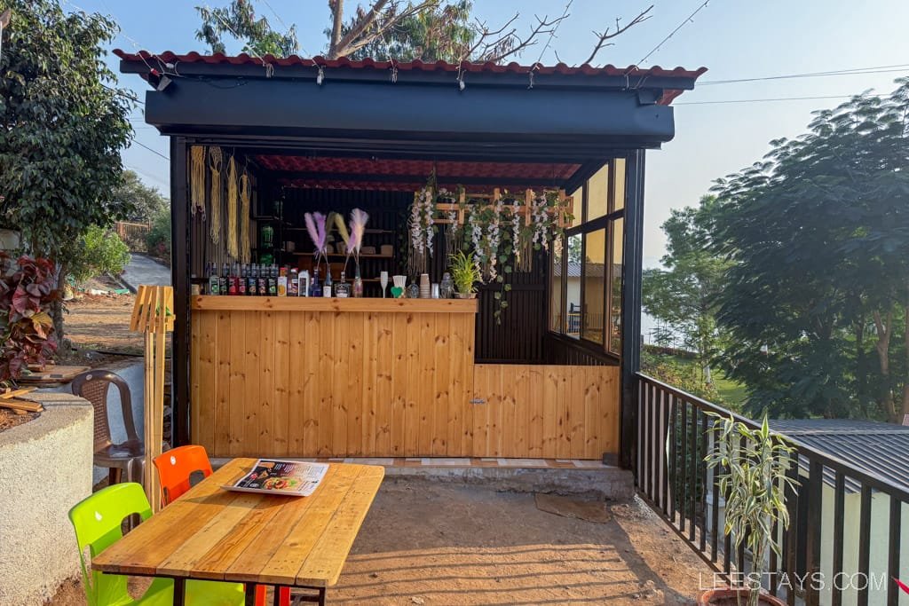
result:
[[[534,15],[562,15],[565,1],[474,0],[474,15],[489,25],[497,25],[519,13],[518,26],[528,30],[535,23]],[[195,40],[199,19],[194,7],[225,4],[225,0],[61,2],[65,10],[113,16],[122,31],[110,48],[142,48],[157,53],[204,51],[204,45]],[[356,0],[347,0],[346,4],[352,11]],[[558,61],[557,53],[564,63],[579,64],[594,46],[592,30],[614,26],[616,17],[628,21],[651,4],[653,17],[614,38],[614,45],[604,47],[594,64],[682,65],[688,69],[704,65],[709,71],[701,78],[703,85],[674,102],[674,140],[664,144],[662,150],[647,154],[644,265],[648,267],[658,265],[664,254],[660,224],[672,209],[697,204],[714,179],[760,160],[769,151],[769,141],[803,133],[812,111],[834,107],[845,97],[868,89],[889,93],[895,87],[894,78],[909,75],[907,0],[710,0],[700,10],[697,9],[704,0],[572,0],[568,17],[548,47],[543,39],[518,61],[532,64],[540,60],[552,65]],[[320,55],[325,51],[324,30],[329,23],[326,0],[255,0],[254,5],[275,29],[297,26],[301,55]],[[694,18],[688,20],[695,11]],[[664,41],[679,25],[681,28]],[[228,45],[228,51],[238,52],[240,46]],[[647,60],[641,62],[646,55]],[[110,55],[108,62],[118,71],[115,56]],[[889,71],[707,84],[882,66],[888,66]],[[122,86],[135,91],[139,98],[145,96],[147,85],[140,78],[119,77]],[[730,103],[819,96],[837,98]],[[134,114],[137,144],[124,150],[124,163],[147,184],[167,194],[167,139],[144,124],[141,108]]]

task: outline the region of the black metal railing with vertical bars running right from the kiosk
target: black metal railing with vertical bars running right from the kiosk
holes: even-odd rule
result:
[[[636,376],[638,492],[724,581],[741,579],[753,570],[752,562],[744,544],[734,549],[724,533],[720,471],[704,462],[712,444],[708,413],[732,413],[644,374]],[[768,556],[764,587],[789,604],[898,604],[902,590],[894,580],[901,578],[901,520],[909,492],[786,438],[795,449],[788,475],[799,485],[786,489],[791,522],[786,531],[773,529],[782,540],[782,557]],[[904,582],[905,577],[909,573]]]

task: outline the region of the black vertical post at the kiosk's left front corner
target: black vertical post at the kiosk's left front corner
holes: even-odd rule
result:
[[[172,446],[189,443],[189,201],[186,140],[171,137],[171,281],[174,334],[171,345]]]

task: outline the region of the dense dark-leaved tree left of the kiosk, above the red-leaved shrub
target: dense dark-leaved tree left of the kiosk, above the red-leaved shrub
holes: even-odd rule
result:
[[[31,253],[55,259],[58,285],[77,234],[129,214],[117,201],[120,149],[130,141],[132,95],[111,84],[102,46],[116,25],[65,15],[55,0],[0,0],[14,27],[0,56],[0,217]],[[60,303],[54,307],[63,338]]]

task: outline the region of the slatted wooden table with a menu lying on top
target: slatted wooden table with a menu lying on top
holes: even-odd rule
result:
[[[369,511],[385,469],[330,463],[309,497],[228,492],[255,459],[234,459],[139,524],[92,560],[103,572],[174,579],[174,603],[185,581],[246,583],[311,589],[306,601],[325,603]],[[276,603],[276,601],[275,601]]]

